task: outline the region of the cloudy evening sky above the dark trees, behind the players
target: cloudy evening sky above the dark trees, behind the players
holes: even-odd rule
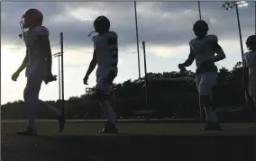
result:
[[[239,8],[243,49],[244,41],[255,32],[254,3]],[[217,66],[232,69],[241,61],[241,49],[235,10],[224,11],[223,2],[201,2],[202,19],[209,25],[209,34],[219,38],[226,58]],[[17,82],[11,76],[25,56],[19,22],[23,13],[37,8],[43,13],[43,25],[50,30],[52,53],[60,51],[59,33],[64,38],[64,92],[65,99],[86,93],[86,87],[96,85],[95,71],[89,77],[89,85],[83,85],[83,77],[92,58],[93,43],[87,37],[93,31],[93,22],[105,15],[111,22],[111,30],[117,32],[119,43],[119,73],[114,83],[137,79],[138,55],[133,2],[2,2],[1,3],[1,104],[23,100],[26,77],[21,73]],[[199,19],[197,2],[137,2],[139,52],[141,75],[144,76],[142,41],[145,41],[148,72],[178,71],[178,63],[188,56],[189,40],[195,38],[192,31]],[[58,58],[53,58],[52,71],[58,75]],[[187,69],[195,70],[195,63]],[[41,100],[59,98],[58,81],[41,85]]]

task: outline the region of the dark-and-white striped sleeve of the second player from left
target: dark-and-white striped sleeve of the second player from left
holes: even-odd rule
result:
[[[118,36],[117,34],[112,31],[110,32],[107,43],[109,45],[109,52],[111,55],[111,65],[112,67],[116,67],[118,63]]]

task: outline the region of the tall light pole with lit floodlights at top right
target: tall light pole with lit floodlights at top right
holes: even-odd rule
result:
[[[239,39],[240,39],[240,47],[241,47],[241,55],[242,55],[242,65],[244,65],[244,60],[243,60],[243,47],[242,47],[242,31],[241,31],[241,24],[240,24],[240,18],[239,18],[239,11],[238,7],[243,7],[247,6],[248,4],[245,1],[226,1],[222,5],[222,8],[224,10],[229,11],[232,10],[233,7],[235,7],[236,11],[236,17],[237,17],[237,24],[238,24],[238,31],[239,31]]]

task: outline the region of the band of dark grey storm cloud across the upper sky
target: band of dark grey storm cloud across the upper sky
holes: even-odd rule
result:
[[[201,2],[202,18],[220,40],[237,39],[235,11],[224,11],[221,4]],[[87,34],[93,31],[95,18],[102,14],[109,17],[111,29],[119,34],[120,46],[136,43],[133,2],[2,2],[2,40],[21,42],[17,36],[21,32],[19,21],[24,11],[32,7],[44,14],[44,25],[50,29],[52,43],[59,41],[62,31],[70,46],[90,47],[92,42]],[[137,13],[140,41],[177,46],[187,44],[194,36],[192,25],[198,20],[197,2],[138,2]],[[243,35],[253,33],[253,15],[252,4],[240,9]]]

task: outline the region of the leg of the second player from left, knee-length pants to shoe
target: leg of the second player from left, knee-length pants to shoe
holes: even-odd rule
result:
[[[110,101],[110,87],[112,84],[105,81],[105,78],[98,77],[96,84],[96,94],[100,106],[105,114],[106,124],[101,133],[116,133],[115,113],[113,104]]]

